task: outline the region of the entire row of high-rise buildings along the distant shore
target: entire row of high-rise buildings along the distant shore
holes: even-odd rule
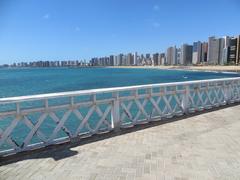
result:
[[[240,35],[208,37],[208,41],[194,41],[168,47],[164,52],[128,52],[93,57],[89,60],[40,60],[4,64],[0,67],[69,67],[69,66],[158,66],[158,65],[239,65]]]

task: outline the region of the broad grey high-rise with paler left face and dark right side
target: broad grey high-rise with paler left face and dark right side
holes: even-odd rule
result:
[[[192,64],[192,53],[193,53],[193,46],[188,44],[183,44],[181,46],[180,64],[183,64],[183,65]]]

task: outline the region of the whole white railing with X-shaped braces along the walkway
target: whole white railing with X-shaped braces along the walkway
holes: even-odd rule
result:
[[[240,78],[0,99],[0,155],[240,101]]]

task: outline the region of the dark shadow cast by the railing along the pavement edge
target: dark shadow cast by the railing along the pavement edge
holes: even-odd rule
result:
[[[29,159],[53,158],[55,161],[58,161],[58,160],[61,160],[64,158],[69,158],[69,157],[77,155],[79,152],[71,150],[71,148],[73,148],[73,147],[82,146],[84,144],[89,144],[89,143],[94,143],[94,142],[101,141],[101,140],[104,140],[107,138],[112,138],[115,136],[120,136],[120,135],[124,135],[127,133],[140,131],[140,130],[143,130],[146,128],[151,128],[151,127],[163,125],[166,123],[184,120],[186,118],[190,118],[190,117],[194,117],[194,116],[198,116],[198,115],[202,115],[202,114],[206,114],[209,112],[213,112],[213,111],[217,111],[220,109],[225,109],[225,108],[229,108],[229,107],[233,107],[233,106],[238,106],[238,105],[240,105],[240,103],[234,103],[231,105],[213,108],[211,110],[204,110],[201,112],[183,115],[180,117],[173,117],[171,119],[162,119],[160,121],[154,121],[154,122],[150,122],[147,124],[140,124],[140,125],[136,125],[131,128],[121,129],[121,131],[119,131],[119,132],[112,131],[112,132],[105,133],[105,134],[93,135],[91,137],[84,138],[84,139],[76,138],[76,139],[71,140],[70,142],[66,142],[63,144],[50,145],[45,148],[20,152],[18,154],[6,156],[6,157],[0,157],[0,166],[15,163],[18,161],[29,160]]]

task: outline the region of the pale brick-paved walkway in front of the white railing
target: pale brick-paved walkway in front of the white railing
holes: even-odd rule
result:
[[[0,179],[239,180],[240,105],[42,152],[1,166]]]

